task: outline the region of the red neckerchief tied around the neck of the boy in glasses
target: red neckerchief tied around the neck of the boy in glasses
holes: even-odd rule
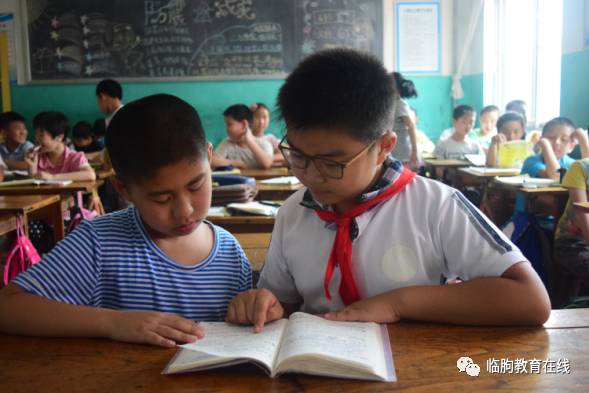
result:
[[[383,192],[366,202],[351,207],[341,215],[327,210],[315,210],[319,218],[323,221],[335,222],[337,224],[337,232],[327,262],[327,268],[325,269],[325,281],[323,283],[327,299],[331,300],[329,283],[333,276],[333,269],[335,268],[335,265],[339,265],[341,271],[339,293],[344,304],[348,305],[360,300],[360,294],[358,293],[358,287],[356,286],[354,271],[352,269],[352,239],[350,238],[350,224],[355,217],[364,213],[372,206],[382,201],[389,200],[401,192],[405,186],[413,181],[414,178],[415,173],[411,172],[406,167],[403,167],[403,171],[399,178]]]

